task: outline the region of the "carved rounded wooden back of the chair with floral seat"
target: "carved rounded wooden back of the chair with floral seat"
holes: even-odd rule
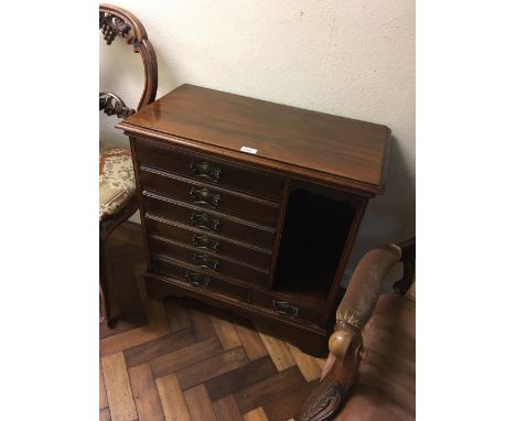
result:
[[[143,61],[146,79],[143,93],[136,110],[126,106],[126,102],[111,91],[101,91],[99,94],[100,111],[108,116],[116,115],[119,118],[126,118],[155,99],[158,61],[154,48],[147,37],[147,31],[142,23],[131,12],[122,8],[100,4],[99,29],[108,45],[111,44],[115,37],[120,36],[132,45],[133,52],[139,53]]]

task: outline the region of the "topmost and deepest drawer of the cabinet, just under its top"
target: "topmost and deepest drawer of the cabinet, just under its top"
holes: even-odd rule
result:
[[[139,164],[153,165],[206,183],[235,188],[279,202],[283,177],[248,166],[186,152],[169,145],[133,138]]]

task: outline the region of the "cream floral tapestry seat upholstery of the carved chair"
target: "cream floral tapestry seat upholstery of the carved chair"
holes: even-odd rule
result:
[[[99,219],[103,220],[125,206],[135,194],[136,184],[131,151],[100,143]]]

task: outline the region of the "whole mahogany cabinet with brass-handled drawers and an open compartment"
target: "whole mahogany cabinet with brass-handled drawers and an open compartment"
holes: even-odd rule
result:
[[[149,296],[191,296],[322,354],[390,130],[192,85],[118,125],[129,136]]]

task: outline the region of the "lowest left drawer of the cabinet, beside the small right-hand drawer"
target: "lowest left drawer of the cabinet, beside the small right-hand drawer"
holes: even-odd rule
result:
[[[151,270],[184,282],[185,285],[198,288],[203,291],[218,292],[243,302],[249,301],[249,290],[247,288],[226,282],[214,276],[196,272],[163,257],[151,256]]]

